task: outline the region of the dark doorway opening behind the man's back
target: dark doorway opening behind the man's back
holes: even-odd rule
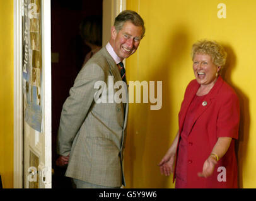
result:
[[[80,33],[79,25],[88,16],[102,18],[103,0],[51,1],[52,19],[52,188],[72,188],[70,178],[64,177],[66,167],[55,165],[57,160],[57,131],[62,106],[69,89],[81,69],[86,53],[90,52]]]

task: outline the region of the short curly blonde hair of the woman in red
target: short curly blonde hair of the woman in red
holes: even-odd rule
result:
[[[209,55],[212,58],[212,63],[218,67],[223,67],[226,63],[227,53],[223,46],[216,41],[201,40],[192,45],[191,57],[194,60],[196,54]]]

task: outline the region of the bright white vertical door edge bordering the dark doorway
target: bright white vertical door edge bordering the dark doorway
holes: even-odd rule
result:
[[[44,117],[44,166],[47,168],[43,188],[52,188],[52,63],[51,63],[51,15],[50,1],[42,0],[42,68],[43,117]],[[42,187],[41,187],[42,188]]]

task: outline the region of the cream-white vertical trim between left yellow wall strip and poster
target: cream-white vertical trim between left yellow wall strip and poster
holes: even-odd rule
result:
[[[13,187],[23,188],[23,92],[21,1],[14,0]]]

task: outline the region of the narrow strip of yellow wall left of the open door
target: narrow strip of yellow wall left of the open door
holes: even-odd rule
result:
[[[13,188],[13,1],[0,0],[0,174]]]

